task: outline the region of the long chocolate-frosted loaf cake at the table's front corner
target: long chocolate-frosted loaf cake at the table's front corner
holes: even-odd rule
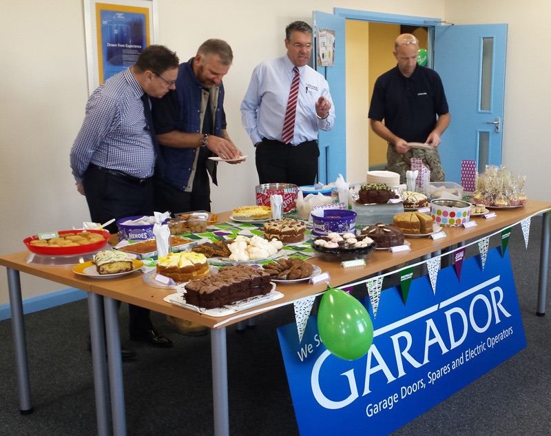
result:
[[[205,309],[215,309],[267,294],[271,289],[269,273],[249,265],[236,265],[224,267],[214,276],[191,280],[185,285],[185,301]]]

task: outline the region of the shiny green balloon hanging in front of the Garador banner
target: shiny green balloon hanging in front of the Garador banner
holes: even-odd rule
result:
[[[373,343],[373,324],[366,308],[352,295],[330,288],[318,310],[320,339],[335,356],[359,359]]]

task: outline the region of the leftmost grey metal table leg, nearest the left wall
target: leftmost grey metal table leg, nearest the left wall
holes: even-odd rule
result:
[[[21,280],[19,278],[19,271],[12,268],[7,268],[7,270],[17,388],[19,391],[19,413],[21,415],[28,415],[33,412],[33,408],[30,402],[29,362],[27,357],[27,341],[25,340],[25,322],[23,321]]]

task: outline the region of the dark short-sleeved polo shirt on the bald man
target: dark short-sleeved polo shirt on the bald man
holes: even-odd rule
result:
[[[405,77],[396,66],[375,81],[368,117],[384,120],[399,138],[424,143],[435,127],[436,115],[448,112],[437,72],[417,65],[411,77]]]

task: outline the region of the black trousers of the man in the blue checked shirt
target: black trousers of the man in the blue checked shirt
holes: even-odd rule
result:
[[[106,222],[111,218],[152,215],[154,211],[153,179],[139,183],[102,171],[97,167],[88,167],[84,174],[84,191],[92,222]],[[113,223],[107,227],[110,233],[117,233]],[[149,309],[128,304],[129,332],[141,335],[152,329]]]

